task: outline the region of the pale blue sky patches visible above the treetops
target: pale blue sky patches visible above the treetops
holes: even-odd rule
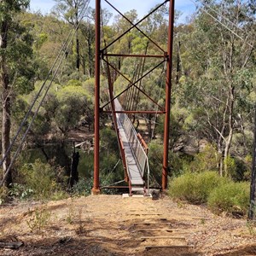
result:
[[[156,4],[163,3],[162,0],[109,0],[117,9],[125,13],[131,9],[136,9],[139,18],[143,15],[148,14],[149,9],[152,9]],[[31,0],[30,9],[31,11],[40,10],[42,14],[49,14],[50,10],[55,5],[54,0]],[[94,7],[95,1],[90,1],[90,5]],[[113,15],[116,15],[115,11],[109,7],[105,1],[102,1],[102,8],[108,8]],[[178,23],[186,21],[186,17],[192,15],[195,12],[195,4],[191,0],[177,0],[175,3],[175,9],[181,11],[183,15],[180,16]]]

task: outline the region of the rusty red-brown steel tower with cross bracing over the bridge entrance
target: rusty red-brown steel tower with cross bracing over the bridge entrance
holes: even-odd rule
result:
[[[119,15],[121,15],[127,22],[130,23],[131,27],[127,29],[125,32],[123,32],[121,35],[119,35],[117,38],[114,38],[112,42],[108,42],[108,44],[102,44],[102,15],[101,15],[101,2],[104,1],[105,3],[108,3],[108,5],[113,8]],[[125,1],[125,0],[123,0]],[[164,123],[164,136],[163,136],[163,165],[162,165],[162,183],[161,187],[163,190],[167,187],[167,177],[169,172],[169,165],[168,165],[168,151],[169,151],[169,131],[170,131],[170,113],[171,113],[171,91],[172,91],[172,45],[173,45],[173,24],[174,24],[174,0],[166,0],[162,1],[155,9],[150,11],[150,13],[143,17],[143,19],[137,21],[136,23],[133,23],[129,18],[127,18],[125,15],[123,15],[118,9],[116,9],[111,1],[108,0],[96,0],[96,15],[95,15],[95,24],[96,24],[96,55],[95,55],[95,146],[94,146],[94,183],[93,183],[93,189],[92,194],[96,195],[100,192],[100,181],[99,181],[99,170],[100,170],[100,115],[101,113],[113,113],[113,125],[116,128],[118,126],[117,120],[116,120],[116,114],[117,113],[125,113],[125,114],[136,114],[136,113],[158,113],[158,114],[164,114],[165,115],[165,123]],[[146,20],[150,15],[153,15],[154,12],[156,12],[160,7],[163,5],[168,4],[169,5],[169,21],[168,21],[168,43],[166,46],[166,49],[162,49],[160,45],[156,44],[152,38],[150,38],[145,32],[143,32],[139,25]],[[148,42],[150,44],[154,44],[154,46],[160,50],[159,55],[150,55],[147,54],[147,50],[142,55],[135,55],[135,54],[113,54],[108,53],[108,49],[110,46],[115,44],[119,41],[120,38],[124,37],[125,34],[128,32],[131,32],[132,29],[137,29],[138,32],[143,34],[145,38],[148,39]],[[150,69],[147,73],[141,73],[141,76],[137,77],[135,81],[132,81],[131,79],[128,79],[120,70],[118,67],[115,67],[108,58],[143,58],[143,60],[147,58],[154,58],[159,59],[159,63],[155,65],[154,68]],[[110,101],[105,104],[104,106],[101,106],[101,80],[100,75],[102,73],[101,67],[102,62],[104,62],[107,65],[107,75],[108,75],[108,88],[109,88],[109,95],[110,95]],[[165,106],[162,107],[158,104],[158,102],[154,101],[154,99],[139,86],[137,86],[137,83],[139,83],[145,76],[147,76],[149,73],[152,73],[154,69],[157,67],[160,67],[160,65],[163,65],[165,63],[166,65],[166,93],[165,93]],[[123,77],[127,80],[129,85],[125,90],[123,90],[118,95],[114,95],[113,92],[113,79],[110,77],[111,72],[110,70],[113,70],[116,74]],[[125,109],[125,108],[116,108],[115,100],[127,92],[127,90],[130,90],[132,87],[136,88],[140,93],[143,93],[144,96],[148,98],[148,101],[154,102],[155,105],[158,106],[158,111],[155,111],[153,109],[147,109],[147,110],[137,110],[137,109]],[[111,105],[112,111],[110,112],[108,109],[106,109],[107,105]],[[117,129],[117,128],[116,128]],[[117,131],[117,130],[116,130]],[[119,142],[119,146],[122,144]],[[119,147],[120,148],[120,147]],[[122,152],[121,152],[122,156]],[[124,156],[122,156],[122,160],[124,160]],[[126,177],[127,178],[127,177]],[[129,177],[128,177],[129,179]]]

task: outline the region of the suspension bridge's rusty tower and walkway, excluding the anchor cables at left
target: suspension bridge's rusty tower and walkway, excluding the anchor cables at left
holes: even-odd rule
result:
[[[100,192],[99,182],[99,170],[100,170],[100,115],[101,113],[112,113],[113,124],[117,137],[119,140],[120,155],[123,161],[125,170],[125,180],[129,183],[130,195],[133,191],[144,191],[145,195],[148,195],[149,189],[149,167],[148,167],[148,147],[143,141],[143,138],[137,134],[134,126],[131,124],[129,115],[138,113],[155,113],[165,115],[164,125],[164,147],[163,147],[163,167],[162,167],[162,189],[167,187],[168,176],[168,148],[169,148],[169,129],[170,129],[170,104],[171,104],[171,78],[172,78],[172,40],[173,40],[173,22],[174,22],[174,1],[166,0],[160,3],[156,8],[152,9],[148,15],[143,19],[138,20],[136,23],[132,22],[127,16],[123,15],[119,9],[116,9],[112,3],[108,0],[104,2],[117,12],[124,20],[126,20],[131,26],[125,32],[118,37],[114,38],[112,42],[104,44],[102,47],[102,34],[104,32],[102,25],[101,15],[101,1],[96,0],[96,62],[95,62],[95,148],[94,148],[94,185],[92,194],[98,194]],[[162,6],[169,3],[169,24],[168,24],[168,38],[167,48],[163,49],[157,44],[154,39],[150,38],[145,32],[143,32],[139,25],[148,19],[150,15],[153,15]],[[115,54],[112,53],[114,44],[121,38],[125,37],[131,30],[137,30],[144,38],[147,38],[148,44],[152,44],[153,47],[160,52],[160,54],[149,55],[147,52],[148,44],[143,54]],[[109,53],[110,52],[110,53]],[[128,79],[124,73],[122,73],[120,67],[116,67],[110,59],[113,58],[137,58],[141,59],[139,67],[135,67],[133,79]],[[153,68],[150,70],[144,70],[145,61],[148,59],[158,60]],[[100,104],[101,98],[101,66],[102,63],[107,67],[108,74],[108,90],[109,90],[109,102],[104,106]],[[143,79],[153,73],[154,70],[162,65],[166,66],[166,96],[165,107],[159,105],[159,103],[148,95],[141,86]],[[113,73],[115,75],[113,75]],[[115,95],[114,82],[116,74],[127,81],[125,90],[122,90],[119,94]],[[155,109],[141,109],[137,110],[138,95],[141,94],[149,102],[152,102]],[[135,102],[135,103],[134,103]],[[110,110],[107,109],[110,106]],[[147,180],[147,184],[146,184]],[[147,187],[147,189],[146,189]]]

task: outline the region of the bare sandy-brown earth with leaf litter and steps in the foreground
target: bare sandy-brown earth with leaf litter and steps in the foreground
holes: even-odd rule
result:
[[[256,255],[255,228],[165,197],[97,195],[0,207],[0,255]]]

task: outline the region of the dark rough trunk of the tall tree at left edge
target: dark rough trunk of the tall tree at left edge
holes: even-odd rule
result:
[[[9,74],[7,70],[7,63],[5,57],[5,49],[7,48],[7,35],[8,35],[8,22],[2,21],[1,32],[0,32],[0,49],[2,49],[2,55],[0,55],[0,83],[2,89],[2,154],[3,157],[6,155],[6,159],[3,161],[3,176],[10,165],[10,152],[9,149],[9,137],[10,137],[10,87],[9,87]],[[4,184],[9,186],[12,183],[12,174],[9,171],[5,179]]]

